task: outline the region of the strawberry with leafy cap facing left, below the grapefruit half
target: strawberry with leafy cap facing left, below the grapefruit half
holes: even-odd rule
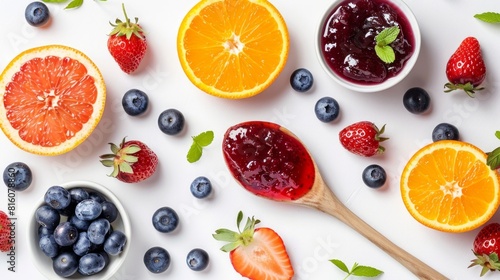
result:
[[[158,156],[141,141],[125,141],[123,138],[120,146],[109,144],[113,153],[100,157],[104,166],[113,167],[109,176],[125,183],[137,183],[156,171]]]

